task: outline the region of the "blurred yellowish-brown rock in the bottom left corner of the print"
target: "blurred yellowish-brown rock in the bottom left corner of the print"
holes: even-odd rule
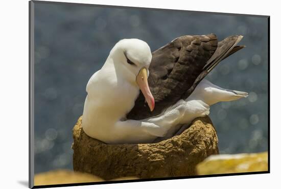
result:
[[[69,183],[85,183],[98,182],[103,179],[88,174],[79,173],[68,170],[56,170],[45,173],[36,174],[34,177],[34,185],[50,185],[50,184],[69,184]]]

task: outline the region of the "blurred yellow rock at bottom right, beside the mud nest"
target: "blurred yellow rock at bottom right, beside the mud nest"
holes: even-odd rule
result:
[[[198,175],[268,171],[267,152],[212,155],[196,167]]]

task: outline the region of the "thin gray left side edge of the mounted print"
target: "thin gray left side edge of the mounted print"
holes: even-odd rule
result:
[[[34,2],[29,1],[29,188],[34,186]]]

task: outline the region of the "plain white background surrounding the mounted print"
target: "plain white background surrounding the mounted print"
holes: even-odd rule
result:
[[[278,1],[59,1],[102,5],[122,5],[209,12],[270,15],[270,152],[271,173],[73,186],[68,188],[266,188],[280,184],[280,5]],[[274,2],[274,3],[273,3]],[[1,188],[27,188],[28,185],[28,0],[2,1],[0,11],[0,111],[1,111]],[[222,27],[214,26],[214,27]],[[118,31],[116,31],[118,32]],[[267,108],[267,107],[264,107]],[[230,133],[229,133],[230,134]],[[279,185],[279,186],[278,186]]]

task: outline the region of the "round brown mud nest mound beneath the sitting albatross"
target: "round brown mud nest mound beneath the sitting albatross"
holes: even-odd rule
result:
[[[195,166],[218,154],[218,137],[209,117],[199,117],[181,134],[153,144],[107,145],[87,136],[82,117],[73,129],[74,171],[105,180],[195,175]]]

